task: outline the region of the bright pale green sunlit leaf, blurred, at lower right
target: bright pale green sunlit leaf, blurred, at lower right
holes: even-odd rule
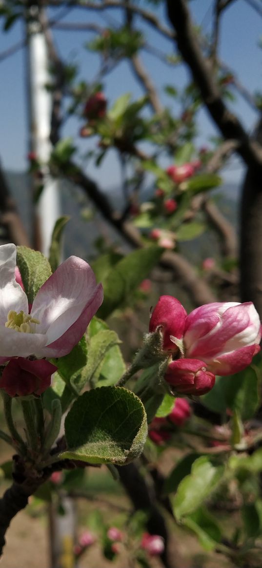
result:
[[[201,456],[193,463],[190,475],[182,479],[172,501],[178,521],[202,505],[218,487],[223,471],[223,466],[214,466],[207,456]]]

